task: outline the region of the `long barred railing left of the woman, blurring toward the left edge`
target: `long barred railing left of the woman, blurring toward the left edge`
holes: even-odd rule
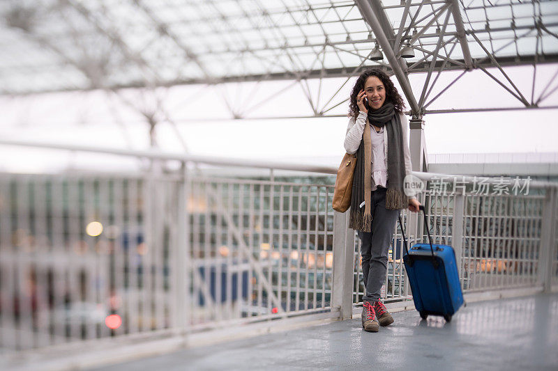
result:
[[[3,175],[2,345],[329,311],[332,196],[269,180]]]

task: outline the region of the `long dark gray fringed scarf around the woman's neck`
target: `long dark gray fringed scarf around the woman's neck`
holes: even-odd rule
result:
[[[401,120],[395,112],[393,103],[386,102],[380,109],[368,110],[368,120],[364,127],[361,145],[356,151],[356,168],[354,169],[351,212],[349,214],[349,227],[354,230],[370,232],[372,226],[372,167],[370,157],[372,156],[372,143],[370,139],[370,124],[377,127],[385,127],[388,137],[387,153],[387,191],[386,209],[400,210],[407,207],[407,196],[403,191],[403,179],[405,178],[405,157],[403,152],[403,135],[401,132]],[[360,207],[362,202],[364,207]]]

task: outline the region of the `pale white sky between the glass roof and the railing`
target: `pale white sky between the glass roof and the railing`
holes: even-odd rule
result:
[[[535,97],[540,95],[558,65],[539,66]],[[531,67],[507,69],[514,84],[531,99]],[[493,73],[497,74],[498,72]],[[444,88],[458,72],[442,74],[430,97]],[[412,75],[414,93],[420,96],[424,74]],[[342,79],[322,84],[319,106],[323,106],[340,86]],[[396,83],[395,77],[392,81]],[[504,79],[502,78],[502,81]],[[553,81],[552,87],[558,81]],[[300,85],[291,81],[255,84],[229,84],[207,88],[174,87],[158,94],[165,111],[176,122],[176,128],[163,120],[158,125],[157,140],[161,150],[183,152],[176,130],[181,133],[190,153],[218,157],[250,159],[291,159],[303,163],[324,157],[336,166],[343,155],[343,139],[347,118],[252,119],[228,120],[225,101],[247,116],[306,116],[308,100]],[[312,99],[317,100],[318,81],[310,81]],[[349,81],[333,97],[336,104],[345,99],[354,84]],[[507,81],[506,81],[507,84]],[[398,86],[398,84],[396,84]],[[509,86],[509,84],[507,84]],[[280,92],[280,93],[278,93]],[[401,93],[401,90],[400,90]],[[144,100],[137,92],[127,92],[134,106],[149,109],[153,97]],[[263,101],[262,105],[257,102]],[[519,102],[482,72],[465,74],[429,109],[486,106],[519,106]],[[558,105],[555,91],[541,105]],[[255,109],[250,110],[251,106]],[[103,92],[62,93],[40,97],[0,97],[0,136],[4,139],[97,145],[111,148],[145,149],[149,146],[148,128],[135,109],[114,95],[107,99]],[[331,113],[346,113],[347,103]],[[426,115],[425,139],[429,154],[481,152],[558,152],[557,109],[447,113]],[[319,160],[321,159],[321,160]],[[57,153],[53,150],[29,150],[0,146],[0,170],[45,171],[75,167],[110,167],[114,159],[94,155]],[[124,166],[128,166],[123,163]]]

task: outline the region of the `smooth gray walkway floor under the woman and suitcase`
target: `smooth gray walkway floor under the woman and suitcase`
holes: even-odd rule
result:
[[[450,323],[360,317],[98,368],[125,370],[558,370],[558,294],[469,303]]]

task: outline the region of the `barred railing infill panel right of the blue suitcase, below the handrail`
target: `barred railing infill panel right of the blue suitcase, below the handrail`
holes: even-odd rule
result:
[[[463,292],[536,285],[545,196],[426,197],[435,242],[461,246]]]

